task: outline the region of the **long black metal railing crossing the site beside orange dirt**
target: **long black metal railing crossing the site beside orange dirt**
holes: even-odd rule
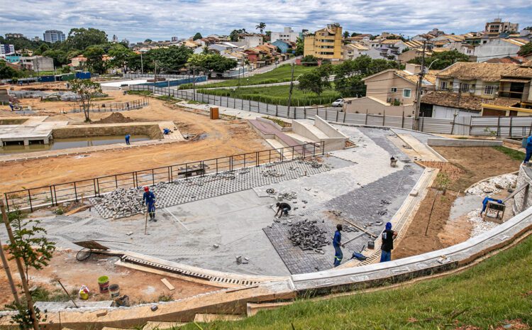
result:
[[[4,198],[8,211],[14,209],[34,209],[55,206],[63,202],[79,201],[82,198],[99,197],[118,188],[142,187],[159,182],[174,182],[192,176],[214,175],[284,160],[294,160],[315,155],[323,155],[324,142],[306,143],[292,147],[255,151],[209,160],[199,160],[149,170],[107,175],[94,179],[60,183],[45,187],[6,192]]]

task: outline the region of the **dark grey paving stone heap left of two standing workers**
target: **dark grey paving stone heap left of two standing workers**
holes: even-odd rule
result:
[[[301,250],[311,250],[316,252],[323,252],[321,248],[331,243],[327,231],[319,228],[316,221],[299,221],[292,226],[288,231],[289,239],[294,246],[299,246]]]

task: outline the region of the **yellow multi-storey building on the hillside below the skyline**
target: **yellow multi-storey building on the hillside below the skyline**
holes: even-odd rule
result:
[[[303,55],[313,55],[323,60],[342,60],[342,27],[338,23],[306,35]]]

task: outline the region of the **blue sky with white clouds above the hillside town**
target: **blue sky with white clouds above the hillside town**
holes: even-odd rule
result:
[[[233,29],[316,31],[340,23],[343,31],[414,36],[432,28],[445,33],[484,30],[500,16],[532,26],[531,0],[0,0],[0,34],[43,38],[45,30],[99,28],[131,42],[226,35]]]

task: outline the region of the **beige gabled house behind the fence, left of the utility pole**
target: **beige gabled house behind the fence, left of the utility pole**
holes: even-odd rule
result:
[[[417,84],[421,65],[406,64],[405,70],[389,69],[362,79],[366,85],[365,97],[345,99],[345,112],[414,116]],[[421,93],[432,92],[436,82],[435,71],[423,76]]]

